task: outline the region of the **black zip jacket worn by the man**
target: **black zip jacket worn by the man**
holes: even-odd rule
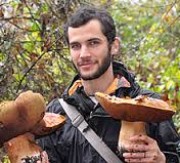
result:
[[[139,94],[154,98],[159,96],[153,92],[143,90],[134,81],[134,76],[125,67],[117,62],[113,63],[114,73],[124,76],[131,87],[120,87],[113,94],[118,97],[136,97]],[[118,155],[117,141],[121,124],[119,120],[110,117],[100,105],[95,103],[85,94],[83,87],[70,96],[69,88],[79,79],[76,76],[72,84],[66,89],[62,97],[74,105],[84,116],[89,126],[104,140],[104,142]],[[65,115],[57,99],[50,102],[48,112]],[[179,163],[180,139],[172,120],[161,123],[147,124],[147,134],[156,139],[160,149],[164,152],[168,163]],[[54,133],[38,139],[39,144],[47,151],[50,163],[105,163],[93,147],[87,142],[80,131],[72,126],[67,118],[63,127]],[[179,147],[179,148],[178,148]],[[123,158],[121,158],[123,159]]]

